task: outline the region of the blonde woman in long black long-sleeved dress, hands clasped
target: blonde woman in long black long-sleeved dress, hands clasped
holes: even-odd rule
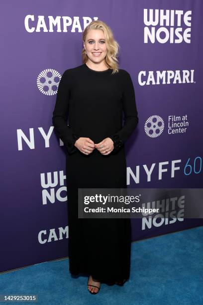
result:
[[[84,64],[60,80],[53,125],[67,152],[69,271],[88,274],[88,289],[96,294],[101,283],[123,285],[129,278],[131,222],[78,218],[78,188],[127,187],[124,143],[138,117],[132,80],[118,68],[110,28],[92,21],[83,43]]]

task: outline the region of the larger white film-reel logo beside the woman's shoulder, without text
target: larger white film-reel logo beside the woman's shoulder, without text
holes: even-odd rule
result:
[[[45,95],[57,94],[61,74],[54,69],[45,69],[37,77],[37,87]]]

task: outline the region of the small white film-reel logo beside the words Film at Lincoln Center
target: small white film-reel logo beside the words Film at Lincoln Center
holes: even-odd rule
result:
[[[145,122],[144,130],[150,138],[159,137],[164,130],[163,119],[157,115],[149,117]]]

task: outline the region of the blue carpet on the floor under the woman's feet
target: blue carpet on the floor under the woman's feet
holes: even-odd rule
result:
[[[40,305],[203,304],[203,227],[132,243],[131,276],[123,287],[87,289],[87,277],[73,278],[68,259],[0,274],[0,295],[38,295]],[[34,304],[12,302],[7,304]],[[3,303],[5,304],[5,303]]]

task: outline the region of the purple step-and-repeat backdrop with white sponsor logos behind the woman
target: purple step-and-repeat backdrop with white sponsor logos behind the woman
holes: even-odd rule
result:
[[[112,29],[134,84],[128,187],[203,186],[202,12],[201,0],[3,1],[0,272],[68,256],[66,153],[52,113],[92,20]],[[132,219],[132,240],[203,225],[174,215]]]

